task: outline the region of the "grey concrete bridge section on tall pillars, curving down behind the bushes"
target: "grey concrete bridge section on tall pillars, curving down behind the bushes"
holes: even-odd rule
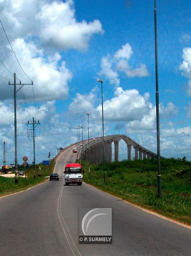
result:
[[[112,143],[114,142],[114,161],[119,160],[119,141],[124,140],[127,145],[127,158],[132,160],[132,150],[134,150],[134,159],[142,160],[144,158],[157,157],[157,154],[139,145],[126,135],[104,136],[104,158],[105,162],[112,162]],[[83,143],[80,150],[80,158],[89,161],[91,164],[100,164],[103,162],[103,139],[102,137],[92,138]]]

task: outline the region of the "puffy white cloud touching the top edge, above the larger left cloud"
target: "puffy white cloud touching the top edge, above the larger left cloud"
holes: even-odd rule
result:
[[[40,22],[41,39],[60,50],[86,50],[91,36],[103,33],[99,20],[77,22],[72,0],[43,4],[36,18]]]

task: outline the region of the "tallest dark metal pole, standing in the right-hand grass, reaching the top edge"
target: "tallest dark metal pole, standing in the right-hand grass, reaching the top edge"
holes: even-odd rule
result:
[[[154,8],[154,21],[155,21],[155,76],[156,76],[156,126],[157,126],[157,159],[158,159],[158,196],[161,197],[161,166],[160,166],[160,132],[159,132],[159,92],[158,92],[158,52],[157,52],[157,10],[156,0]]]

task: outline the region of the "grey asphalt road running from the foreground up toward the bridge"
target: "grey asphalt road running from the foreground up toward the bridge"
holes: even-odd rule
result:
[[[0,198],[1,256],[190,256],[191,229],[87,184],[63,186],[66,150],[47,181]],[[112,208],[112,244],[79,244],[79,208]]]

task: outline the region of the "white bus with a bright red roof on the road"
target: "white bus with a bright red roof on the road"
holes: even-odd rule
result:
[[[83,169],[81,164],[66,164],[64,174],[65,174],[65,185],[78,184],[82,185],[83,182]]]

